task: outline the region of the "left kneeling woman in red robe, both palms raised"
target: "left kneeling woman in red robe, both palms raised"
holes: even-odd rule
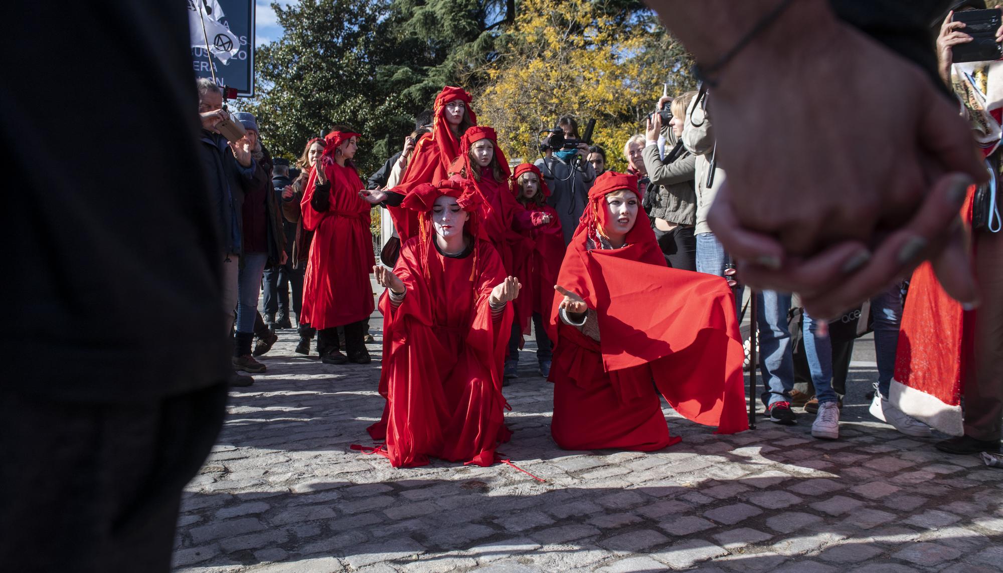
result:
[[[392,271],[374,268],[387,288],[379,387],[387,402],[369,434],[386,440],[375,451],[394,467],[429,457],[489,466],[511,436],[501,363],[519,281],[477,236],[472,185],[418,185],[401,206],[418,212],[420,230],[401,245]]]

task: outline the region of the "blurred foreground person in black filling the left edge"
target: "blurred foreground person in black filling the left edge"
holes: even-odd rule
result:
[[[18,328],[2,335],[6,571],[169,571],[182,488],[222,424],[226,247],[197,152],[184,6],[34,3],[6,32],[47,62],[0,87],[0,148],[25,209],[4,240],[29,261],[9,281]],[[72,57],[53,41],[69,37]],[[78,88],[71,117],[54,111],[65,86]],[[37,169],[68,129],[86,143]],[[93,176],[108,157],[134,176]]]

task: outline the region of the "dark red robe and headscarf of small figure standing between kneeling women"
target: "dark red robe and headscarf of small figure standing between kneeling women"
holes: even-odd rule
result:
[[[521,163],[516,166],[512,177],[512,193],[518,197],[522,192],[519,177],[523,173],[536,173],[540,179],[539,193],[544,197],[551,195],[540,168],[533,163]],[[564,234],[561,230],[561,218],[558,211],[547,203],[543,205],[536,201],[520,204],[513,217],[513,226],[522,232],[526,239],[513,249],[513,261],[516,276],[523,284],[516,299],[516,318],[523,334],[529,334],[530,321],[534,313],[549,319],[551,307],[554,304],[554,284],[558,279],[561,261],[565,255]],[[550,222],[544,222],[543,216],[551,215]]]

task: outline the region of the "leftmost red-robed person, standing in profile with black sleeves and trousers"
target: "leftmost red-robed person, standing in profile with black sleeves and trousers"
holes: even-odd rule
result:
[[[358,133],[336,128],[326,137],[301,201],[303,227],[314,231],[303,283],[303,321],[317,329],[321,360],[327,364],[369,364],[363,337],[372,314],[369,269],[375,263],[370,205],[352,157]],[[338,341],[345,330],[345,354]]]

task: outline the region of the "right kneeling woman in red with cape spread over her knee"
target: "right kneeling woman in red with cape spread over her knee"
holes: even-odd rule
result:
[[[644,216],[637,177],[607,171],[568,245],[550,323],[551,434],[564,449],[678,442],[658,392],[719,434],[748,428],[734,297],[720,276],[667,267]]]

